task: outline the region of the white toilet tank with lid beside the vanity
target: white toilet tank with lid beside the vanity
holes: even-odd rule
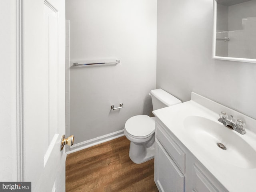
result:
[[[153,110],[169,107],[181,103],[179,99],[167,93],[163,89],[154,89],[150,91],[152,98]]]

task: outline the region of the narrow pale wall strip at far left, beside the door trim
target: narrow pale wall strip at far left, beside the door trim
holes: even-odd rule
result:
[[[0,1],[0,181],[17,181],[16,4]]]

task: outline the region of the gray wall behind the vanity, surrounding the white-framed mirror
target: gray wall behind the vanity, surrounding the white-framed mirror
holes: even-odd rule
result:
[[[212,0],[158,0],[156,86],[256,118],[256,64],[212,59]]]

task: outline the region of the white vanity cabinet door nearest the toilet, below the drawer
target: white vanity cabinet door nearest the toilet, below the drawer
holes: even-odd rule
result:
[[[157,139],[154,180],[160,192],[184,192],[184,175]]]

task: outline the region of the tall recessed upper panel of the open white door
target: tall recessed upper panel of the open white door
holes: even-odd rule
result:
[[[58,139],[58,11],[44,2],[44,63],[47,77],[45,89],[47,97],[48,126],[44,127],[45,156],[52,151]],[[44,158],[45,160],[47,158]],[[46,162],[44,162],[46,164]]]

